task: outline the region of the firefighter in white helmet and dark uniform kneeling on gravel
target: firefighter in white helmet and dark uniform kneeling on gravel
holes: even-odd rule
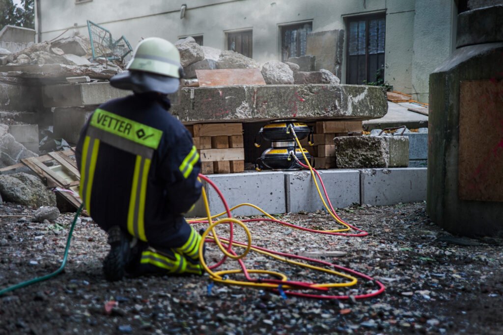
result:
[[[128,71],[110,84],[134,94],[100,105],[80,132],[80,198],[108,232],[105,278],[202,274],[201,236],[183,213],[201,195],[201,161],[189,131],[167,110],[178,90],[180,53],[168,41],[141,41]]]

